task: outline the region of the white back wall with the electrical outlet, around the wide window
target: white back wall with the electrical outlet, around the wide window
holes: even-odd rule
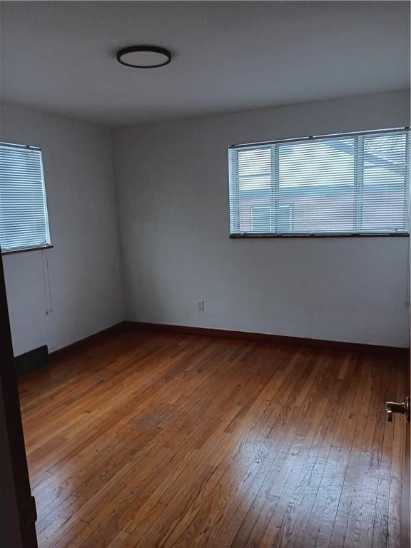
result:
[[[127,318],[407,346],[408,238],[230,240],[227,147],[408,125],[395,92],[118,128]]]

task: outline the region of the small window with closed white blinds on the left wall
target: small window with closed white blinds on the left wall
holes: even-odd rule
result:
[[[41,150],[0,143],[1,251],[50,244]]]

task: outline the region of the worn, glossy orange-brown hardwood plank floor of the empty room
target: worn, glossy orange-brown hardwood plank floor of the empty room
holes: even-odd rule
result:
[[[123,333],[21,379],[41,548],[400,547],[405,363]]]

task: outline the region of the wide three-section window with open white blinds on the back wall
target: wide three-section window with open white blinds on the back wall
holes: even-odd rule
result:
[[[233,145],[230,233],[408,234],[408,128]]]

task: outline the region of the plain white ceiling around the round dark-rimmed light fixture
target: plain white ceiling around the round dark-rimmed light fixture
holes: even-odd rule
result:
[[[6,1],[1,97],[122,125],[410,85],[407,1]],[[116,50],[166,46],[153,69]]]

